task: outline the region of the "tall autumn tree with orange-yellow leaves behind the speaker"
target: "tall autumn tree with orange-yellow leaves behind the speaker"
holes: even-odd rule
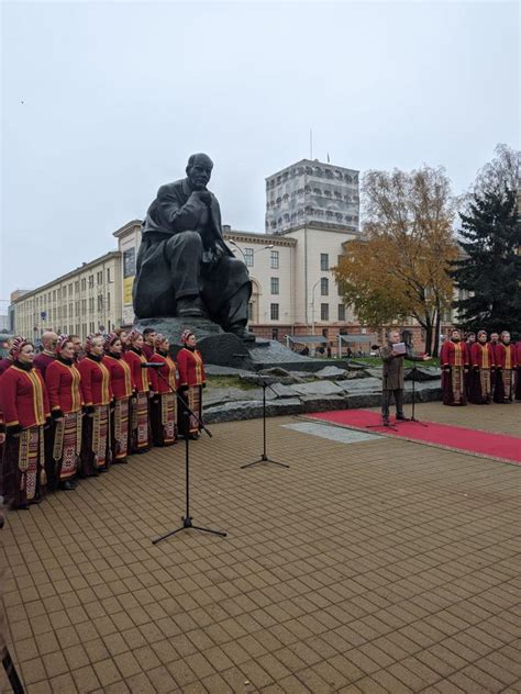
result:
[[[454,199],[443,168],[368,171],[363,183],[365,224],[347,242],[334,275],[346,305],[373,328],[413,316],[425,331],[425,351],[437,356],[441,313],[450,309]]]

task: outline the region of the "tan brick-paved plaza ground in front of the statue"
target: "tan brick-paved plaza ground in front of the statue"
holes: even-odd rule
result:
[[[417,416],[519,430],[521,405]],[[0,562],[29,694],[521,692],[521,467],[268,421],[212,426],[11,514]],[[454,421],[456,423],[456,421]],[[3,671],[0,690],[5,687]]]

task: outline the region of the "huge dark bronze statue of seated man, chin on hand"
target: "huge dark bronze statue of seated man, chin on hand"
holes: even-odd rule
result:
[[[213,163],[188,160],[187,178],[162,186],[142,227],[134,281],[138,318],[208,316],[245,340],[252,294],[246,265],[228,248],[219,202],[209,190]]]

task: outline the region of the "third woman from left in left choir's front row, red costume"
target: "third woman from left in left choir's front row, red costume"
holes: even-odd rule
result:
[[[92,355],[91,340],[98,335],[87,338],[87,356],[78,363],[81,374],[81,393],[87,416],[84,421],[81,441],[81,474],[97,475],[107,470],[111,462],[110,445],[110,402],[112,389],[110,373],[102,362],[102,357]]]

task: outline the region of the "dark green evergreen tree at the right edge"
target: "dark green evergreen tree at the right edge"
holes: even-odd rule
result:
[[[466,329],[509,329],[521,337],[521,226],[517,191],[476,191],[466,214],[461,213],[461,246],[453,276],[467,299],[455,302]]]

